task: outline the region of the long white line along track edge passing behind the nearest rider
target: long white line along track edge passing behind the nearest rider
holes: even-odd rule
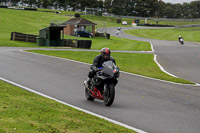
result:
[[[84,62],[80,62],[80,61],[65,59],[65,58],[56,57],[56,56],[50,56],[50,55],[45,55],[45,54],[33,53],[33,52],[23,51],[23,50],[20,50],[20,51],[21,52],[25,52],[25,53],[35,54],[35,55],[42,55],[42,56],[52,57],[52,58],[56,58],[56,59],[61,59],[61,60],[67,60],[67,61],[71,61],[71,62],[81,63],[81,64],[85,64],[85,65],[91,65],[89,63],[84,63]],[[198,83],[196,83],[195,85],[192,85],[192,84],[182,84],[182,83],[175,83],[175,82],[171,82],[171,81],[166,81],[166,80],[151,78],[151,77],[147,77],[147,76],[142,76],[142,75],[138,75],[138,74],[133,74],[133,73],[125,72],[125,71],[120,71],[120,72],[129,74],[129,75],[134,75],[134,76],[138,76],[138,77],[147,78],[147,79],[152,79],[152,80],[157,80],[157,81],[161,81],[161,82],[166,82],[166,83],[170,83],[170,84],[187,85],[187,86],[200,86],[200,84],[198,84]]]

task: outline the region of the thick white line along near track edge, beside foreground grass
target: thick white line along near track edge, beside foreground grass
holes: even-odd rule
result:
[[[55,98],[53,98],[53,97],[50,97],[50,96],[48,96],[48,95],[45,95],[45,94],[43,94],[43,93],[40,93],[40,92],[35,91],[35,90],[33,90],[33,89],[30,89],[30,88],[28,88],[28,87],[19,85],[19,84],[15,83],[15,82],[12,82],[12,81],[7,80],[7,79],[5,79],[5,78],[0,77],[0,80],[5,81],[5,82],[7,82],[7,83],[9,83],[9,84],[15,85],[15,86],[17,86],[17,87],[20,87],[20,88],[22,88],[22,89],[24,89],[24,90],[30,91],[30,92],[32,92],[32,93],[35,93],[35,94],[37,94],[37,95],[46,97],[46,98],[48,98],[48,99],[52,99],[52,100],[54,100],[54,101],[56,101],[56,102],[59,102],[59,103],[64,104],[64,105],[67,105],[67,106],[72,107],[72,108],[74,108],[74,109],[77,109],[77,110],[79,110],[79,111],[85,112],[85,113],[87,113],[87,114],[90,114],[90,115],[99,117],[99,118],[101,118],[101,119],[107,120],[107,121],[109,121],[109,122],[111,122],[111,123],[120,125],[120,126],[122,126],[122,127],[128,128],[128,129],[133,130],[133,131],[136,131],[136,132],[138,132],[138,133],[147,133],[147,132],[142,131],[142,130],[140,130],[140,129],[131,127],[131,126],[126,125],[126,124],[123,124],[123,123],[121,123],[121,122],[118,122],[118,121],[112,120],[112,119],[110,119],[110,118],[104,117],[104,116],[102,116],[102,115],[98,115],[98,114],[93,113],[93,112],[90,112],[90,111],[88,111],[88,110],[85,110],[85,109],[76,107],[76,106],[74,106],[74,105],[68,104],[68,103],[66,103],[66,102],[63,102],[63,101],[61,101],[61,100],[55,99]]]

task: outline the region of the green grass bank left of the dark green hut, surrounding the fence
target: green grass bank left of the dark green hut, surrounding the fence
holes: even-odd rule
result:
[[[66,21],[70,17],[55,13],[0,8],[0,46],[36,47],[36,43],[11,41],[11,32],[38,35],[39,30],[48,27],[52,19]]]

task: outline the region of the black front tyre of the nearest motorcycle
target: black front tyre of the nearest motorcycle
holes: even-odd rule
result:
[[[106,86],[107,89],[104,88],[103,101],[105,106],[110,106],[112,105],[115,99],[115,86],[114,85],[106,85]]]

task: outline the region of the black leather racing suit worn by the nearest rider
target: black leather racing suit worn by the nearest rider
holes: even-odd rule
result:
[[[111,60],[116,65],[115,59],[113,57],[110,57],[108,60]],[[91,71],[89,72],[88,77],[93,78],[94,75],[96,74],[98,67],[102,67],[102,64],[108,60],[104,60],[102,55],[97,55],[94,58],[93,64],[90,67]]]

